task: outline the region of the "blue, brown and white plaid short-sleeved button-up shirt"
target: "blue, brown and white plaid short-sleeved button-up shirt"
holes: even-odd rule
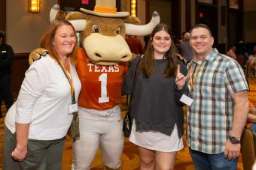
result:
[[[192,64],[192,66],[190,66]],[[230,94],[248,89],[242,67],[214,49],[201,63],[191,61],[193,103],[187,108],[187,145],[206,154],[224,151],[233,125],[233,99]]]

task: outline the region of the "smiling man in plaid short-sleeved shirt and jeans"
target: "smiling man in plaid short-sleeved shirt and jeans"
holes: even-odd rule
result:
[[[190,36],[195,59],[187,64],[188,76],[177,74],[192,100],[187,103],[190,155],[197,170],[235,170],[248,113],[245,75],[237,61],[212,48],[209,26],[195,25]]]

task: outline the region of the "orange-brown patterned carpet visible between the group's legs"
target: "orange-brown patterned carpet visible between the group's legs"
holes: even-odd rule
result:
[[[254,103],[256,106],[256,79],[251,78],[248,79],[251,91],[248,92],[248,98]],[[122,115],[124,116],[126,112],[126,97],[123,97],[121,103]],[[4,106],[2,106],[2,111],[6,112]],[[0,119],[0,154],[2,157],[2,135],[3,135],[3,121],[4,118]],[[185,142],[184,142],[185,143]],[[123,170],[139,170],[139,153],[136,148],[136,145],[133,145],[125,139],[123,154],[122,154],[122,169]],[[69,170],[72,163],[72,139],[67,139],[65,145],[65,151],[63,153],[63,170]],[[92,170],[101,170],[102,169],[102,157],[100,156],[100,150],[98,150],[96,154],[96,158],[94,159],[92,166]],[[175,160],[175,170],[194,170],[194,164],[190,158],[190,154],[188,151],[187,145],[178,152],[176,160]],[[239,157],[239,163],[237,170],[242,170],[242,160]],[[0,160],[0,170],[2,170],[2,159]],[[12,169],[10,169],[12,170]]]

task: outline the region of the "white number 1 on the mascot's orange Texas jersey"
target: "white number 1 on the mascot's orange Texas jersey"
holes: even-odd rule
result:
[[[109,97],[107,97],[107,73],[102,73],[99,76],[99,82],[101,82],[100,84],[100,94],[101,97],[99,97],[99,103],[105,103],[105,102],[109,102]]]

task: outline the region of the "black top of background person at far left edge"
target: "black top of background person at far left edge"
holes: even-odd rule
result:
[[[6,43],[0,44],[0,73],[11,74],[11,61],[14,58],[14,50]]]

